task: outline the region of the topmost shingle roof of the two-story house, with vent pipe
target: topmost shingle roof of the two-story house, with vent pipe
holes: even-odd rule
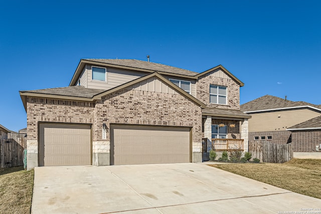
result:
[[[147,61],[141,60],[126,60],[126,59],[84,59],[92,62],[100,62],[100,63],[108,63],[112,65],[118,66],[126,66],[130,68],[140,68],[140,69],[147,69],[150,71],[158,71],[158,72],[168,72],[174,74],[181,74],[187,76],[195,76],[199,73],[194,71],[189,71],[186,69],[176,68],[168,65],[152,63]]]

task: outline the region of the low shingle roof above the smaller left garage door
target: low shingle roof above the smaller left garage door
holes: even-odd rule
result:
[[[92,98],[96,94],[99,94],[104,91],[106,90],[85,88],[83,86],[69,86],[62,88],[48,88],[22,92]]]

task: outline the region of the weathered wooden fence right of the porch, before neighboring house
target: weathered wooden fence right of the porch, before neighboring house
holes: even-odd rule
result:
[[[253,158],[266,163],[284,163],[293,157],[291,143],[276,144],[270,141],[249,141],[249,152]]]

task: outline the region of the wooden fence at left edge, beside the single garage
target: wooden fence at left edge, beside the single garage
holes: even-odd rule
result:
[[[0,168],[23,166],[23,151],[27,148],[27,138],[0,139]]]

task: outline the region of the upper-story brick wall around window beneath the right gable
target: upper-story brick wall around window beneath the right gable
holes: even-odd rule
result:
[[[215,77],[213,74],[217,71],[218,69],[199,78],[196,83],[196,98],[205,103],[208,107],[240,109],[240,86],[233,79]],[[210,103],[210,84],[227,87],[227,105]]]

